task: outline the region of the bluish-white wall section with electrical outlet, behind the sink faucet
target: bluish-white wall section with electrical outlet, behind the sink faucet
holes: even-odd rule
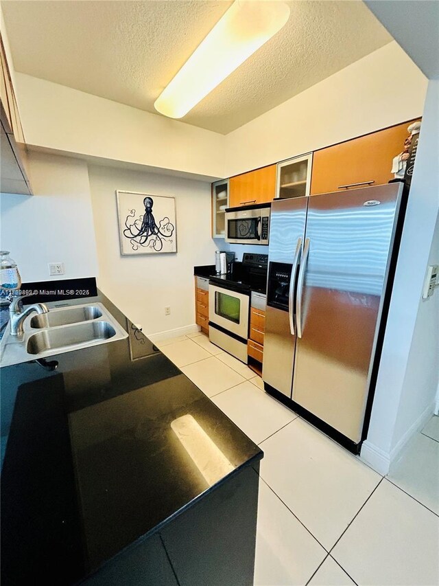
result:
[[[29,153],[34,196],[1,194],[1,249],[10,250],[24,282],[54,280],[48,262],[64,262],[62,279],[97,275],[87,165]]]

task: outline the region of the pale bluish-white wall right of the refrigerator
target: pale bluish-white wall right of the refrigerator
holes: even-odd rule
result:
[[[430,80],[370,428],[361,449],[361,457],[381,473],[428,416],[421,412],[430,398],[433,412],[439,291],[427,302],[420,297],[439,210],[438,137],[439,82]],[[437,256],[433,251],[431,258]]]

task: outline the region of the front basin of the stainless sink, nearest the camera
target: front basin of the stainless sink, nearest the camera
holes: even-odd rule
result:
[[[59,350],[75,346],[82,348],[90,346],[99,340],[108,340],[116,335],[116,330],[108,322],[84,322],[68,328],[47,329],[27,339],[26,350],[29,354],[42,354],[51,351],[57,354]]]

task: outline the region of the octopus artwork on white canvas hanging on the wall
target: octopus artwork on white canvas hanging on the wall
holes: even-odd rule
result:
[[[121,255],[177,251],[176,199],[116,191]]]

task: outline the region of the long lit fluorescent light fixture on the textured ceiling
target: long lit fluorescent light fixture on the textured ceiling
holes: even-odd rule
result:
[[[235,0],[158,96],[155,109],[171,118],[189,112],[262,47],[289,18],[280,1]]]

